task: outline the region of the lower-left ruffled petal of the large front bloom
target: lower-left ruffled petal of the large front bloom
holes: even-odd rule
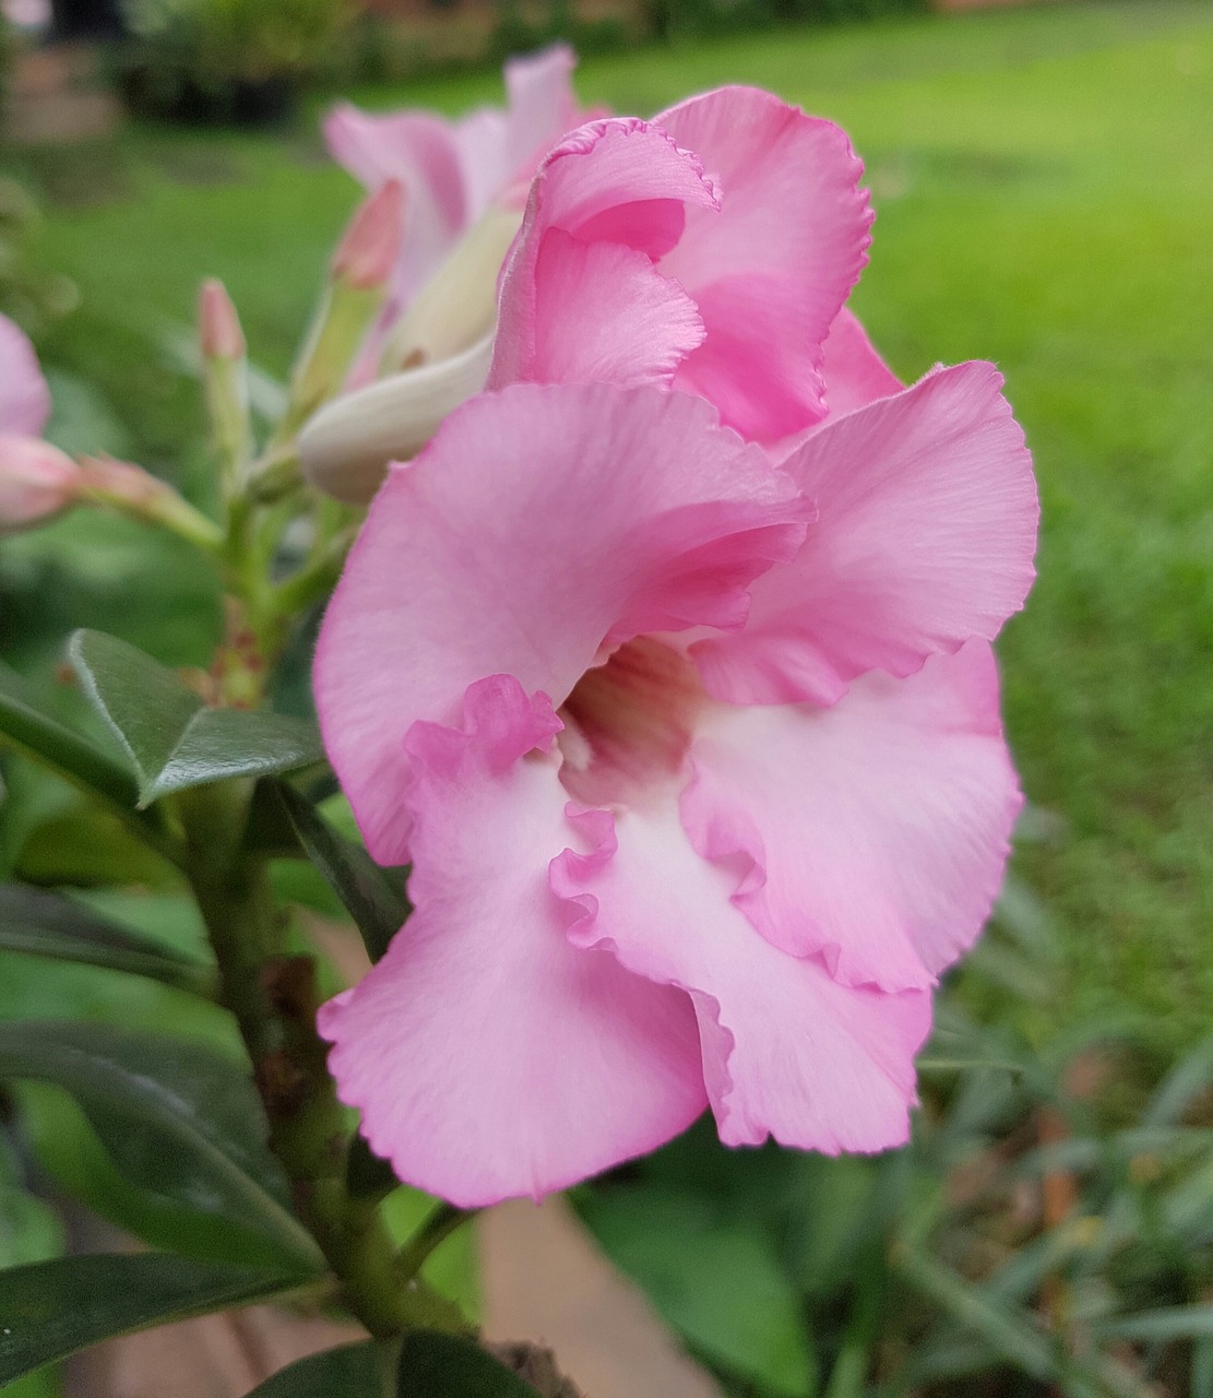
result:
[[[548,863],[576,830],[542,696],[500,675],[461,730],[419,723],[416,911],[320,1011],[340,1096],[401,1180],[464,1208],[541,1198],[654,1149],[706,1104],[678,990],[563,935]],[[528,754],[523,756],[523,754]]]

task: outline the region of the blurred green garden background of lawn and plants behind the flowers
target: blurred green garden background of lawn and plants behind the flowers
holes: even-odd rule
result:
[[[0,310],[35,337],[49,435],[204,509],[197,284],[228,285],[273,401],[358,197],[319,136],[335,92],[456,113],[499,99],[503,55],[567,38],[587,103],[752,82],[847,127],[878,211],[854,308],[907,382],[994,359],[1036,456],[1040,577],[999,642],[1031,805],[908,1152],[729,1155],[696,1130],[573,1204],[727,1392],[1213,1398],[1213,6],[133,0],[53,31],[7,8]],[[59,668],[80,625],[204,664],[217,583],[117,520],[0,540],[3,663],[88,723]],[[279,703],[306,709],[306,643]],[[198,938],[151,857],[0,770],[4,878]],[[0,952],[0,1016],[45,1015],[229,1033]],[[140,1232],[64,1100],[4,1113],[0,1264],[81,1246],[64,1187]],[[401,1194],[401,1227],[425,1206]],[[471,1243],[436,1265],[475,1304]]]

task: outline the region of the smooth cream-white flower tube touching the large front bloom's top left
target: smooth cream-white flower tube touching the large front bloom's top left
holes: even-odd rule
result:
[[[299,435],[307,480],[348,505],[369,505],[388,461],[407,461],[443,419],[484,389],[493,359],[488,334],[440,363],[380,379],[327,403]]]

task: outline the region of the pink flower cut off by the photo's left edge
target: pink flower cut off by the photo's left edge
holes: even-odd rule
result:
[[[49,417],[34,347],[0,316],[0,534],[49,519],[77,498],[80,468],[38,436]]]

